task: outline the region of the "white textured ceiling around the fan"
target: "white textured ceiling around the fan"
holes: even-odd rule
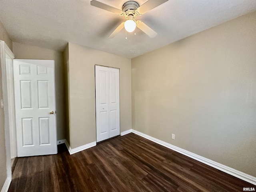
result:
[[[122,9],[127,0],[98,1]],[[136,29],[127,40],[124,29],[107,38],[124,17],[90,0],[0,0],[0,21],[14,42],[59,51],[72,42],[134,58],[254,10],[256,0],[169,0],[137,17],[157,32],[155,38]]]

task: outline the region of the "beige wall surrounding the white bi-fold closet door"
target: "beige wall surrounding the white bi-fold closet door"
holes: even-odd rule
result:
[[[131,129],[131,60],[72,43],[68,50],[71,148],[96,141],[94,65],[120,68],[120,131]]]

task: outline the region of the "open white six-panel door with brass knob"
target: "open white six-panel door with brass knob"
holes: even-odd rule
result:
[[[17,153],[57,153],[53,60],[14,59]]]

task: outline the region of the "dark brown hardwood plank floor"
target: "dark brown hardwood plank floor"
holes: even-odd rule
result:
[[[9,192],[242,192],[256,186],[135,134],[18,158]]]

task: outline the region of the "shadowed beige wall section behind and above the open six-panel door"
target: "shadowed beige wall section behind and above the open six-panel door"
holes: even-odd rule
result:
[[[13,42],[13,53],[16,59],[45,59],[55,63],[56,91],[56,124],[57,140],[65,139],[65,96],[64,96],[64,64],[63,53],[55,50],[40,48]]]

